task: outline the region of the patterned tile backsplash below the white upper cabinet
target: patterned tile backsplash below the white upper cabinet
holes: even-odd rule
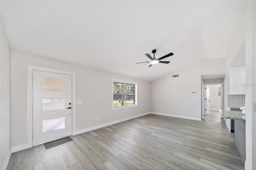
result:
[[[228,107],[240,108],[245,106],[245,95],[228,95]]]

